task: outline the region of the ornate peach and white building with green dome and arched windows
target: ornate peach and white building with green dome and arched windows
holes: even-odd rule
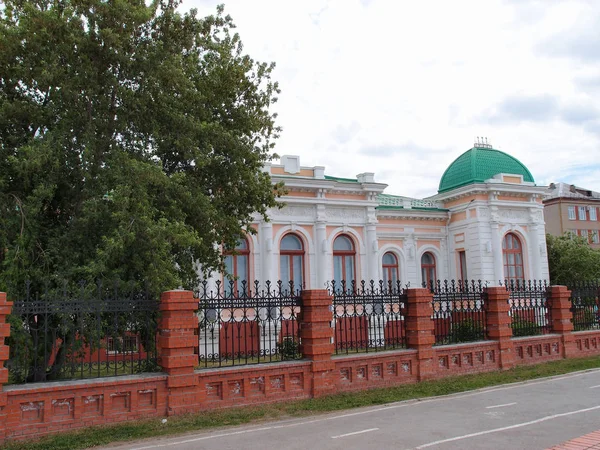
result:
[[[226,258],[235,288],[243,281],[293,281],[307,289],[332,280],[383,280],[420,286],[438,279],[546,280],[545,187],[518,160],[478,143],[443,174],[436,195],[385,192],[373,173],[326,175],[298,156],[267,164],[284,182],[282,207]],[[210,274],[209,286],[223,275]]]

